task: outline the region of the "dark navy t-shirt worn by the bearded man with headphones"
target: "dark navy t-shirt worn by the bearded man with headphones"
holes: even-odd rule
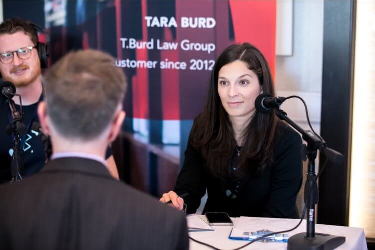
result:
[[[41,98],[42,99],[42,98]],[[40,100],[39,100],[40,101]],[[32,123],[39,122],[37,107],[39,102],[22,106],[23,123],[27,127],[27,134],[22,136],[21,148],[23,147],[23,177],[37,173],[45,164],[44,145],[37,131],[32,130]],[[19,105],[15,105],[19,110]],[[9,104],[5,99],[0,98],[0,184],[11,180],[11,155],[13,153],[13,134],[6,132],[6,126],[11,122]],[[23,145],[23,146],[22,146]],[[106,158],[112,155],[108,146]]]

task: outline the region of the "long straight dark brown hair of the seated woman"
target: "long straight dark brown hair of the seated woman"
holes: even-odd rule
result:
[[[275,95],[268,63],[263,54],[251,44],[231,45],[216,60],[208,87],[207,102],[203,112],[195,119],[190,140],[192,146],[201,152],[206,167],[221,179],[228,175],[236,141],[231,121],[217,91],[218,72],[224,65],[236,60],[245,62],[248,69],[257,75],[263,93]],[[259,173],[272,163],[277,124],[274,111],[270,114],[255,112],[241,135],[237,176],[241,177],[248,172]]]

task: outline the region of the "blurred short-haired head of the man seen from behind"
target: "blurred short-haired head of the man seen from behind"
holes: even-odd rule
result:
[[[126,78],[107,53],[70,52],[47,70],[42,83],[47,129],[52,135],[91,141],[108,136],[111,125],[123,121]]]

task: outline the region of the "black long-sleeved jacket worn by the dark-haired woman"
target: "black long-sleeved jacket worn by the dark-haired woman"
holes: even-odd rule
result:
[[[228,197],[223,180],[214,177],[188,140],[183,167],[174,191],[184,198],[187,212],[195,213],[207,189],[205,212],[227,212],[231,217],[297,218],[295,205],[302,184],[302,140],[291,127],[280,122],[274,141],[274,163],[260,174],[242,179],[236,198]],[[251,166],[253,167],[253,166]]]

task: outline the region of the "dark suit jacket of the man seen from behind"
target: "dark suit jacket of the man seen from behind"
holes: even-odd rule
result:
[[[0,249],[188,249],[185,216],[114,180],[100,162],[58,158],[0,186]]]

